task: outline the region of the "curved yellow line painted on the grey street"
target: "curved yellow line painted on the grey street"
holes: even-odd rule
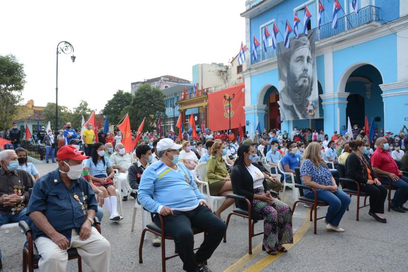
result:
[[[287,250],[291,249],[292,246],[294,246],[300,239],[306,234],[309,230],[309,227],[311,225],[310,218],[308,216],[309,213],[306,213],[306,218],[304,218],[302,226],[296,231],[295,235],[293,236],[293,244],[287,244],[285,245],[285,248]],[[266,266],[274,262],[277,258],[281,257],[285,253],[278,252],[277,255],[267,255],[261,260],[257,261],[256,263],[252,264],[249,266],[247,269],[245,269],[243,272],[258,272],[264,269]]]

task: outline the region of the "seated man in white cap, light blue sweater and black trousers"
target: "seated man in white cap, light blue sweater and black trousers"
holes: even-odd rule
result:
[[[181,147],[169,138],[159,141],[157,151],[160,161],[150,164],[143,171],[138,200],[148,211],[164,216],[166,235],[174,238],[183,269],[209,271],[204,263],[221,242],[226,227],[211,212],[190,171],[179,162]],[[160,226],[160,218],[155,216],[154,219]],[[195,254],[192,226],[207,232]]]

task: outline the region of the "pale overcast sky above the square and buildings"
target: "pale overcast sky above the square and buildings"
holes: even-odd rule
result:
[[[118,89],[163,75],[192,80],[192,65],[227,63],[245,40],[244,0],[1,1],[0,54],[24,64],[24,103],[104,108]]]

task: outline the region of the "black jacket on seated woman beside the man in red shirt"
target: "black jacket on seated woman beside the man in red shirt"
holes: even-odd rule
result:
[[[365,160],[365,159],[364,159]],[[370,161],[366,160],[368,168],[371,171],[371,178],[375,179],[374,171],[371,167]],[[356,182],[365,185],[368,181],[368,172],[366,165],[360,161],[359,157],[354,153],[348,155],[346,159],[346,178],[355,180]]]

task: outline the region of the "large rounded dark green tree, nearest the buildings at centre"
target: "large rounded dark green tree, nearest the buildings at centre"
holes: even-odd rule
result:
[[[137,130],[146,117],[143,130],[157,130],[157,120],[161,115],[166,117],[166,104],[164,102],[163,92],[157,87],[151,87],[150,84],[141,85],[135,92],[130,106],[125,107],[121,116],[129,113],[131,128]]]

